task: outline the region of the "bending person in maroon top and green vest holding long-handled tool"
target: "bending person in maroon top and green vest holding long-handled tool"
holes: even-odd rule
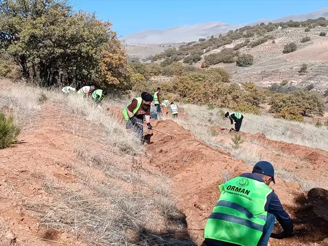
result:
[[[143,135],[142,124],[144,116],[148,129],[152,129],[150,125],[150,104],[152,101],[152,95],[148,92],[143,92],[141,93],[141,97],[134,98],[131,103],[123,109],[124,118],[127,120],[127,129],[133,130],[140,139],[142,139]]]

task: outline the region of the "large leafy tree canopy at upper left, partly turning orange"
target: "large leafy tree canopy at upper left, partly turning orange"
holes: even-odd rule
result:
[[[128,56],[111,23],[73,12],[67,0],[0,1],[0,48],[42,86],[128,86]]]

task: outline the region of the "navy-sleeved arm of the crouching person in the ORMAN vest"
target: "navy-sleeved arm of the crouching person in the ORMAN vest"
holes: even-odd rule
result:
[[[281,202],[278,196],[274,193],[274,191],[272,191],[269,196],[271,197],[268,197],[268,203],[266,204],[266,211],[268,211],[268,213],[273,214],[276,217],[277,221],[279,222],[279,224],[283,229],[283,234],[285,236],[292,235],[294,231],[294,225],[291,217],[283,209]]]

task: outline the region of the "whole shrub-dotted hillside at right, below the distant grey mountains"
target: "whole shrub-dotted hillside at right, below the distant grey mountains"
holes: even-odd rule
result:
[[[219,37],[200,39],[184,44],[152,45],[164,50],[152,57],[163,67],[174,61],[196,68],[224,68],[233,82],[253,82],[261,87],[284,84],[290,88],[309,88],[325,92],[328,86],[328,21],[321,17],[304,22],[288,21],[245,26]],[[285,46],[295,44],[296,50],[285,52]],[[140,46],[134,52],[142,54]],[[147,57],[152,47],[145,45]],[[178,48],[177,48],[178,47]],[[128,52],[131,47],[126,46]],[[238,66],[239,55],[252,57],[252,63]],[[130,57],[132,54],[130,53]],[[244,55],[242,55],[244,56]],[[138,55],[133,55],[137,59]],[[142,60],[140,60],[142,61]]]

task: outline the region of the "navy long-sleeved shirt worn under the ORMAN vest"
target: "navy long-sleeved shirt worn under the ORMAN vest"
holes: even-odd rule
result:
[[[240,175],[240,177],[254,179],[260,182],[264,182],[261,176],[258,174],[251,174],[251,173],[245,173]],[[274,190],[267,196],[267,202],[265,203],[264,207],[265,211],[267,211],[270,214],[273,214],[279,224],[281,225],[283,231],[286,233],[286,235],[291,235],[294,231],[294,225],[291,217],[286,213],[286,211],[283,209],[281,202],[278,198],[278,196],[274,193]],[[215,246],[233,246],[237,245],[230,242],[223,242],[213,239],[208,239],[211,241],[211,245]]]

